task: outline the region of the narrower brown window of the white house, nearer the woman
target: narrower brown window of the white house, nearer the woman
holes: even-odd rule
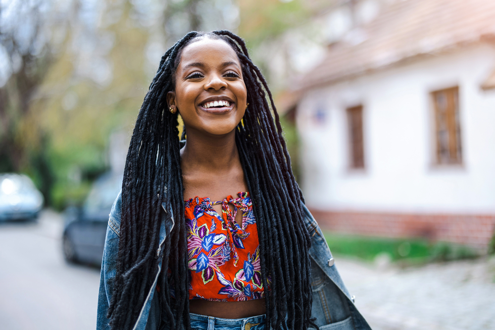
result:
[[[363,106],[347,108],[350,167],[364,168]]]

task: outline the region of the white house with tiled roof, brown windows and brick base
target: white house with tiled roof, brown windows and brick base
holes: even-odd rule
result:
[[[296,84],[301,188],[355,234],[485,249],[495,229],[495,1],[403,0]]]

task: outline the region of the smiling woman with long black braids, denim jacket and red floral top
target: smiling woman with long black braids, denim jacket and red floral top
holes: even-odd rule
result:
[[[303,201],[242,39],[189,33],[136,121],[98,329],[369,329]]]

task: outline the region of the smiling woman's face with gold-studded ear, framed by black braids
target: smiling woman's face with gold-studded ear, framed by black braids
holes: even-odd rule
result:
[[[225,135],[246,111],[247,91],[236,52],[223,40],[203,38],[186,46],[167,94],[188,135]]]

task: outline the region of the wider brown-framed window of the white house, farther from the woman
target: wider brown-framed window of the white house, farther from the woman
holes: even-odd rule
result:
[[[462,162],[458,95],[458,87],[432,93],[438,164]]]

